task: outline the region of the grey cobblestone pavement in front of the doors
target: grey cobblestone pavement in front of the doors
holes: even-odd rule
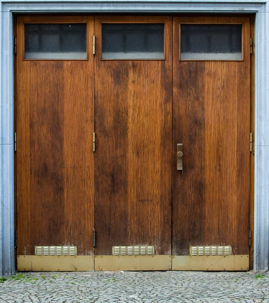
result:
[[[269,302],[269,272],[18,273],[0,302]]]

